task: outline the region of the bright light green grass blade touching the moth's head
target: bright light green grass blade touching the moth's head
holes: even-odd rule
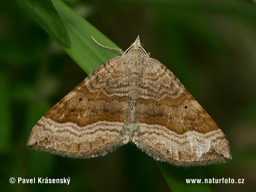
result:
[[[61,16],[72,46],[62,48],[86,72],[93,72],[103,62],[120,55],[120,51],[108,50],[98,46],[93,36],[104,46],[117,47],[104,34],[88,23],[84,18],[67,7],[61,0],[52,0],[54,7]]]

